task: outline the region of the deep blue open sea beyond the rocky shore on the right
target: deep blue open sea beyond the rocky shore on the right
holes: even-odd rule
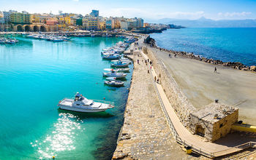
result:
[[[256,65],[256,28],[183,28],[153,33],[151,37],[166,49]]]

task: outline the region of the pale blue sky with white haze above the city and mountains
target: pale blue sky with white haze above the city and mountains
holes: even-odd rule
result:
[[[143,17],[158,20],[177,19],[214,20],[256,19],[256,0],[0,0],[0,10],[15,9],[34,13],[57,14],[73,12],[85,15],[99,9],[99,15]]]

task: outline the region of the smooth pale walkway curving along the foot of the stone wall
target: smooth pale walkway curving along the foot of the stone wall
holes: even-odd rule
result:
[[[143,54],[143,52],[141,52],[141,54],[143,55],[143,57],[146,60],[148,60],[147,55]],[[152,66],[151,73],[152,73],[153,77],[157,76],[157,74],[154,71],[153,66]],[[200,151],[204,151],[205,153],[211,154],[214,157],[223,156],[223,155],[226,155],[228,153],[234,153],[236,151],[241,151],[240,148],[233,148],[236,145],[238,145],[236,143],[236,140],[238,140],[238,139],[236,139],[237,138],[236,136],[234,137],[234,139],[227,140],[226,142],[225,142],[225,138],[222,138],[219,141],[217,141],[216,143],[210,143],[210,142],[203,141],[202,138],[200,138],[197,135],[192,135],[192,133],[189,132],[183,126],[183,124],[181,124],[180,120],[178,119],[178,116],[176,115],[175,111],[173,110],[172,106],[169,103],[169,100],[167,99],[167,97],[165,95],[165,92],[162,88],[162,85],[156,83],[156,86],[157,86],[157,90],[159,92],[160,98],[162,99],[162,102],[164,103],[167,114],[170,117],[170,120],[172,121],[173,126],[176,129],[176,132],[178,133],[179,137],[181,138],[181,140],[184,143],[192,146],[193,148],[197,148]],[[227,135],[227,137],[228,137],[228,135]],[[222,140],[224,140],[224,143],[222,143]],[[244,137],[244,138],[242,138],[241,141],[239,141],[239,143],[243,144],[243,143],[246,143],[246,142],[249,142],[249,141],[256,142],[255,139]]]

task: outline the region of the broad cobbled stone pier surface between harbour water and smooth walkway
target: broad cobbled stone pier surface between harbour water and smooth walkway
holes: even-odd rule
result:
[[[113,159],[182,159],[187,155],[173,139],[143,57],[135,61],[124,112],[124,126]],[[139,60],[139,63],[137,63]]]

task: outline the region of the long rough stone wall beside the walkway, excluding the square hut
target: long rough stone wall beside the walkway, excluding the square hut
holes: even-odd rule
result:
[[[154,52],[147,47],[143,47],[143,52],[148,55],[150,60],[153,62],[155,71],[159,76],[159,81],[165,90],[165,94],[167,95],[170,104],[175,109],[182,124],[184,124],[185,127],[188,127],[189,113],[196,111],[195,107],[189,102],[184,93],[181,92],[176,81],[172,76],[170,76],[170,73],[167,71],[167,68],[165,68],[162,61],[154,55]]]

